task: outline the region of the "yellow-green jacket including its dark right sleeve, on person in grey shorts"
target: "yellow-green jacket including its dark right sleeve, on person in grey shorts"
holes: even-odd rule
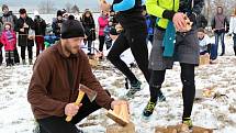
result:
[[[159,18],[157,25],[162,29],[167,27],[168,21],[178,11],[190,13],[191,16],[189,18],[194,22],[196,15],[201,13],[203,5],[204,0],[146,0],[147,13]],[[170,15],[171,19],[167,15]]]

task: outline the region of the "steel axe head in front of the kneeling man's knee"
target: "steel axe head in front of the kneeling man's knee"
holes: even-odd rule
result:
[[[79,91],[83,91],[88,96],[90,102],[94,101],[98,95],[97,91],[91,90],[87,86],[81,84],[79,85]]]

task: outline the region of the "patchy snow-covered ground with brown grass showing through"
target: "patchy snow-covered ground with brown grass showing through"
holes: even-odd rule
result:
[[[213,89],[214,93],[226,95],[216,99],[205,98],[195,101],[192,119],[195,125],[215,129],[214,133],[236,132],[236,56],[233,56],[232,38],[226,38],[226,55],[218,57],[215,65],[196,68],[196,89]],[[98,46],[98,42],[95,43]],[[150,46],[149,46],[150,47]],[[35,47],[34,47],[35,48]],[[128,63],[133,62],[131,52],[123,56]],[[124,96],[124,76],[108,60],[100,63],[94,75],[104,89],[115,98]],[[105,67],[104,67],[105,66]],[[130,100],[131,118],[137,133],[153,133],[157,125],[177,124],[181,120],[182,98],[180,67],[175,65],[167,71],[162,91],[166,102],[158,103],[149,120],[142,118],[142,111],[148,101],[147,82],[137,68],[133,68],[138,79],[143,81],[143,90]],[[0,133],[32,133],[35,126],[30,104],[26,100],[27,87],[32,75],[32,66],[0,66]],[[105,110],[99,110],[78,124],[87,133],[104,133],[105,128],[113,121],[105,117]]]

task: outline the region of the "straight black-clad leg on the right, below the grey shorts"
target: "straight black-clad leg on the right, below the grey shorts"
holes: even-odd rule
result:
[[[191,112],[193,101],[195,97],[195,80],[194,80],[194,65],[192,64],[180,64],[181,66],[181,81],[183,85],[182,98],[183,98],[183,114],[182,121],[191,120]]]

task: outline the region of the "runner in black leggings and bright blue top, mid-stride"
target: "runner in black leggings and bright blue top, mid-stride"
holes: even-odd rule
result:
[[[142,0],[114,0],[111,9],[117,12],[117,21],[124,31],[121,32],[120,36],[114,42],[108,55],[108,59],[130,80],[131,89],[126,96],[132,97],[135,92],[141,90],[142,82],[121,59],[120,56],[124,51],[131,48],[132,54],[134,55],[134,58],[147,82],[149,82],[150,78],[148,69],[148,49],[146,44],[147,26],[145,16],[142,14]],[[105,8],[102,7],[102,10],[105,10]],[[161,97],[161,100],[165,99],[162,93],[159,96]]]

